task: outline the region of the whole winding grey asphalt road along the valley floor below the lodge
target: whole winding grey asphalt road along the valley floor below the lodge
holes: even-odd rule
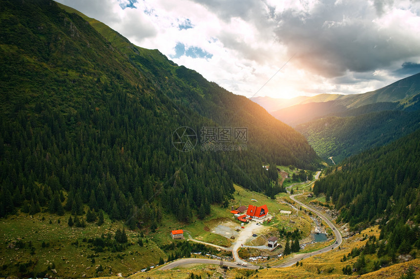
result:
[[[318,179],[320,173],[321,173],[320,171],[318,171],[316,173],[315,180]],[[302,195],[302,194],[292,195],[292,196],[290,196],[290,198],[295,203],[301,205],[302,207],[306,208],[307,210],[310,210],[310,211],[314,212],[322,220],[324,220],[325,223],[327,223],[327,225],[330,226],[331,229],[333,230],[334,235],[336,237],[336,242],[334,242],[333,244],[331,244],[331,245],[329,245],[329,246],[327,246],[325,248],[322,248],[320,250],[317,250],[317,251],[314,251],[314,252],[311,252],[311,253],[294,254],[292,256],[292,258],[286,260],[285,262],[283,262],[281,264],[278,264],[278,265],[273,265],[272,266],[273,268],[280,268],[280,267],[292,266],[292,265],[294,265],[299,260],[304,260],[304,259],[310,258],[310,257],[315,256],[315,255],[319,255],[319,254],[322,254],[322,253],[329,252],[332,249],[334,249],[334,248],[338,247],[339,245],[341,245],[341,243],[343,242],[343,239],[341,237],[341,234],[338,231],[337,227],[334,225],[334,223],[332,223],[324,214],[322,214],[318,210],[316,210],[316,209],[314,209],[314,208],[312,208],[312,207],[310,207],[308,205],[305,205],[305,204],[299,202],[298,200],[296,200],[295,197],[296,196],[299,196],[299,195]],[[203,243],[205,243],[205,242],[203,242]],[[207,244],[207,243],[205,243],[205,244]],[[239,248],[239,247],[235,247],[234,246],[233,249],[232,249],[233,251],[236,252],[236,255],[237,255],[237,251],[236,251],[237,248]],[[237,259],[237,258],[239,258],[239,257],[238,256],[235,257],[235,259]],[[243,262],[243,261],[241,260],[240,262]],[[205,263],[205,264],[218,264],[218,265],[222,265],[222,266],[237,267],[237,268],[247,268],[247,269],[258,269],[259,268],[259,266],[252,265],[252,264],[249,264],[249,263],[248,263],[248,266],[242,266],[242,265],[237,265],[235,262],[223,261],[223,260],[185,258],[185,259],[174,260],[174,261],[172,261],[172,262],[170,262],[170,263],[168,263],[168,264],[160,267],[159,270],[168,270],[168,269],[172,269],[174,267],[180,266],[180,265],[184,265],[184,264],[196,264],[196,263],[198,263],[198,264],[200,264],[200,263]]]

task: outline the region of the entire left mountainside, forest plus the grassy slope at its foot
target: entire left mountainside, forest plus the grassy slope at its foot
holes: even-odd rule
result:
[[[128,275],[202,251],[168,231],[223,210],[233,182],[277,193],[264,163],[319,162],[260,106],[101,22],[50,0],[0,11],[0,232],[16,248],[0,249],[0,277]]]

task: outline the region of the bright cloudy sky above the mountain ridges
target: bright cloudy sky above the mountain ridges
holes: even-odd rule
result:
[[[365,93],[420,72],[420,0],[58,0],[235,94]]]

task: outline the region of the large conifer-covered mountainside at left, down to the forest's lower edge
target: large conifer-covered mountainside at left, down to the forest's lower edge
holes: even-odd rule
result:
[[[156,226],[223,204],[235,182],[273,194],[263,162],[315,168],[305,138],[245,97],[51,0],[1,0],[0,217],[21,211]],[[198,143],[172,145],[187,126]],[[202,150],[203,127],[246,128],[246,149]],[[217,143],[217,142],[216,142]],[[133,218],[134,217],[134,218]]]

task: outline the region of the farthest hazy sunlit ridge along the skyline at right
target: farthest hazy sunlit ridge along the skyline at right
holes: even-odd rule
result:
[[[289,106],[274,105],[282,99],[270,100],[267,97],[260,97],[258,103],[265,107],[275,118],[292,126],[325,116],[353,115],[361,113],[377,112],[382,110],[419,109],[420,73],[403,78],[378,90],[351,95],[319,94],[313,97],[296,97],[291,99]],[[292,101],[293,100],[293,101]],[[270,110],[269,110],[270,109]]]

